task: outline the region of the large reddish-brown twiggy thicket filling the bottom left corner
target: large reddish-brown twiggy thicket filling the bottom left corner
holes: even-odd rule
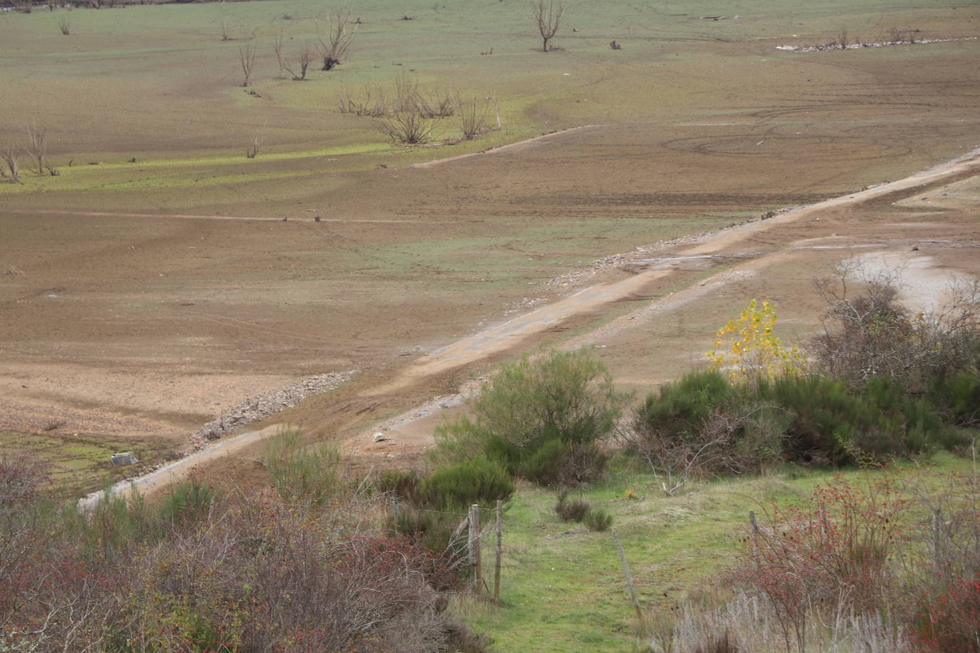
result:
[[[16,526],[0,531],[2,650],[481,650],[440,614],[445,560],[371,528],[380,499],[212,500],[187,484],[159,505],[110,493],[79,515],[49,509],[41,478],[0,463],[0,523]]]

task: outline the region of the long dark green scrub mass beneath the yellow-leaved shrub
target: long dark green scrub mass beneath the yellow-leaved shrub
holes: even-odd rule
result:
[[[966,397],[952,399],[960,407],[948,414],[967,414],[972,382],[960,375],[952,383],[956,390],[937,386],[936,395]],[[933,403],[887,377],[858,388],[795,374],[748,384],[716,370],[688,374],[647,396],[620,438],[662,474],[668,493],[688,478],[755,472],[780,461],[874,464],[966,442]]]

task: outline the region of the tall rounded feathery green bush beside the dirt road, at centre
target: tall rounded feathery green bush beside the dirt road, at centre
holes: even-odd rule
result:
[[[473,417],[439,427],[437,464],[485,455],[540,485],[581,482],[605,465],[594,446],[613,433],[624,396],[591,350],[552,351],[501,366],[473,401]]]

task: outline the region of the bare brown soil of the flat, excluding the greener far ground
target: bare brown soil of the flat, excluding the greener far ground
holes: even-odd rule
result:
[[[923,66],[705,47],[737,77],[664,68],[650,89],[660,101],[613,121],[598,102],[571,103],[612,98],[615,79],[577,75],[531,114],[549,128],[602,124],[438,165],[258,161],[295,176],[0,195],[0,269],[24,272],[0,275],[0,431],[58,421],[178,447],[245,396],[359,370],[255,428],[293,422],[355,438],[365,464],[412,461],[441,410],[416,435],[361,444],[539,343],[593,342],[618,379],[648,388],[698,362],[748,298],[779,301],[787,337],[808,334],[810,278],[844,257],[977,271],[972,168],[855,193],[977,147],[972,41]],[[665,80],[684,93],[659,94]],[[828,198],[840,200],[672,240]],[[500,327],[493,346],[461,340],[529,304],[541,312]],[[214,472],[247,483],[256,469],[238,455]]]

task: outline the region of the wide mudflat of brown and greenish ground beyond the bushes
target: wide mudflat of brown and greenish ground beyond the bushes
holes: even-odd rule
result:
[[[249,398],[354,370],[247,428],[297,423],[358,449],[423,406],[415,444],[363,447],[399,463],[456,399],[427,402],[523,350],[593,343],[642,391],[700,362],[752,297],[806,337],[810,279],[841,259],[907,259],[931,288],[975,273],[973,163],[911,175],[980,145],[978,42],[786,53],[835,25],[756,4],[720,23],[583,7],[545,55],[516,16],[488,36],[489,15],[406,26],[368,3],[375,26],[337,75],[292,82],[266,59],[260,97],[234,78],[237,46],[209,35],[211,6],[130,7],[115,25],[77,12],[71,39],[40,13],[2,17],[0,83],[16,92],[0,109],[37,115],[60,174],[0,184],[0,433],[130,443],[158,464]],[[980,32],[969,7],[900,5],[887,21]],[[839,10],[852,32],[882,20]],[[261,37],[281,23],[269,3],[229,11]],[[286,26],[301,37],[304,21]],[[426,49],[449,33],[470,37]],[[32,64],[41,49],[63,65]],[[336,111],[342,88],[411,69],[426,88],[495,94],[502,128],[460,142],[446,120],[455,144],[406,148]],[[45,97],[72,109],[29,111]],[[23,130],[0,125],[0,143]],[[255,471],[231,458],[231,476]]]

